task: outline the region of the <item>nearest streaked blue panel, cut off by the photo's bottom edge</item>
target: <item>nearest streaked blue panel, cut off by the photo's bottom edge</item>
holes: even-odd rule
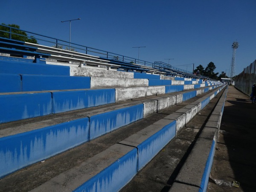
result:
[[[137,174],[137,162],[137,149],[134,148],[74,192],[118,192]]]

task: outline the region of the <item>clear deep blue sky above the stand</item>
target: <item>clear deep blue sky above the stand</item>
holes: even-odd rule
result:
[[[256,59],[256,0],[5,0],[0,23],[77,44],[192,71],[195,63],[236,74]]]

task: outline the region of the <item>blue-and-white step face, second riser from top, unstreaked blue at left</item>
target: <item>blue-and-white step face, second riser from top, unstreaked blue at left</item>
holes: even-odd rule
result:
[[[145,87],[168,86],[166,89],[174,89],[179,85],[179,90],[189,90],[208,85],[202,81],[192,80],[166,80],[166,79],[134,79],[134,78],[107,78],[87,76],[50,76],[32,74],[0,74],[0,92],[24,92],[43,90],[68,90],[87,88],[112,88],[112,87]],[[176,86],[174,86],[176,85]],[[167,92],[167,91],[165,91]]]

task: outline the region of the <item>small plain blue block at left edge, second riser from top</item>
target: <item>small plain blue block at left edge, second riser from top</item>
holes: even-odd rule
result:
[[[0,74],[0,93],[21,91],[21,79],[18,74]]]

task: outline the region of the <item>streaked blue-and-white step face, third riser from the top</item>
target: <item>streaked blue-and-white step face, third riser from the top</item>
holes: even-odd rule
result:
[[[48,82],[48,84],[50,84],[50,82]],[[115,89],[0,93],[0,104],[3,106],[3,108],[0,108],[0,114],[2,115],[0,123],[89,108],[114,102],[122,102],[130,99],[174,93],[182,90],[194,89],[196,85],[201,87],[200,84],[191,84],[151,87],[121,87]],[[204,87],[206,84],[202,85]],[[184,93],[183,100],[185,98],[191,98],[199,93],[207,92],[213,87],[219,85],[220,84],[211,85],[202,89],[195,89],[190,93]],[[72,84],[70,84],[70,86],[72,86]],[[32,87],[35,87],[35,84],[33,84]]]

